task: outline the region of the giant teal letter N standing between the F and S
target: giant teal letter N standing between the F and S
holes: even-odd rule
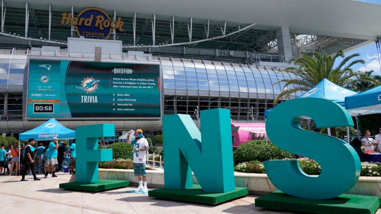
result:
[[[192,169],[203,191],[233,191],[230,110],[215,108],[200,113],[201,134],[190,115],[163,116],[164,186],[169,189],[191,187]]]

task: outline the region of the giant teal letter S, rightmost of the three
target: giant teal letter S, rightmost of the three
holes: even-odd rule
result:
[[[357,153],[338,138],[302,129],[303,117],[311,117],[318,128],[353,126],[343,107],[324,99],[295,99],[274,107],[266,120],[270,140],[283,150],[318,161],[321,173],[307,175],[297,160],[270,160],[264,162],[269,179],[279,190],[301,198],[329,199],[345,193],[360,176]]]

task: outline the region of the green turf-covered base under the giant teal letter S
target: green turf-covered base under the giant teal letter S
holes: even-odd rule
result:
[[[342,194],[326,200],[304,199],[276,191],[255,199],[255,207],[314,214],[374,214],[380,206],[377,196]]]

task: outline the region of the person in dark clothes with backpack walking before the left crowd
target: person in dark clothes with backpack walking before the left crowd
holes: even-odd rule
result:
[[[36,144],[36,141],[33,138],[29,138],[28,145],[25,147],[22,153],[24,164],[22,169],[21,181],[28,181],[27,179],[25,179],[25,174],[28,171],[28,169],[32,171],[34,180],[41,180],[40,178],[37,178],[36,172],[35,172],[35,163],[34,163],[35,149],[33,147],[33,145],[35,144]]]

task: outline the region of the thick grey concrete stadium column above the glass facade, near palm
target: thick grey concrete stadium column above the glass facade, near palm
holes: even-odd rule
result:
[[[290,30],[282,27],[276,31],[276,39],[278,42],[278,55],[286,56],[286,61],[292,57]],[[280,61],[282,62],[282,61]]]

